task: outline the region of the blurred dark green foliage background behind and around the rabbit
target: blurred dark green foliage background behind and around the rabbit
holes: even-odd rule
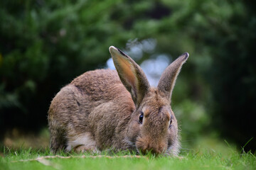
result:
[[[112,68],[114,45],[152,85],[190,54],[171,103],[181,152],[224,140],[241,149],[250,139],[244,149],[255,151],[255,9],[235,0],[1,1],[1,146],[47,146],[50,101],[83,72]]]

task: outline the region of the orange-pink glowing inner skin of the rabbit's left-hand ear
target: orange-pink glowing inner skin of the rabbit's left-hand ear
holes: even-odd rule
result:
[[[136,74],[134,73],[134,67],[129,60],[126,60],[123,57],[118,57],[117,60],[120,68],[122,69],[123,78],[127,80],[133,89],[135,89],[137,79],[135,77]]]

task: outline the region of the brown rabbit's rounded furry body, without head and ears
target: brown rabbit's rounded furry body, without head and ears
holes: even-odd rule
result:
[[[124,129],[134,109],[131,95],[117,71],[85,72],[53,99],[48,116],[51,147],[54,150],[64,147],[70,150],[81,145],[93,147],[95,151],[106,147],[128,149]],[[63,134],[55,135],[59,132]]]

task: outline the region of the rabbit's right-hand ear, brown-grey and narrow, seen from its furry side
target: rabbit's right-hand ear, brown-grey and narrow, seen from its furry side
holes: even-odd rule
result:
[[[181,71],[181,67],[188,59],[188,52],[185,52],[183,55],[178,57],[174,62],[172,62],[169,67],[164,70],[164,73],[161,75],[157,89],[161,91],[166,98],[171,101],[171,93],[174,89],[176,78],[178,73]]]

